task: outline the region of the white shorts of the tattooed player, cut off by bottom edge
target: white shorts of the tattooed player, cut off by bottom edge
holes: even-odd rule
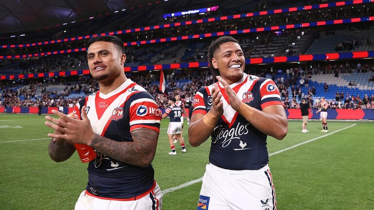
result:
[[[163,195],[157,182],[155,183],[153,190],[143,193],[143,197],[129,201],[93,197],[85,190],[80,193],[74,210],[161,210]]]

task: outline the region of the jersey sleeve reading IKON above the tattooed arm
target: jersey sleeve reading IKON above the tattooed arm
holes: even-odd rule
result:
[[[148,92],[139,92],[131,97],[129,108],[130,132],[139,128],[149,128],[160,132],[162,111]]]

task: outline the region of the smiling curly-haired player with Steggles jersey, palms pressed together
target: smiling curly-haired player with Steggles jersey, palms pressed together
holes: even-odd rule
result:
[[[211,137],[197,209],[274,210],[266,137],[287,134],[279,90],[272,80],[243,72],[243,51],[232,37],[212,42],[208,62],[218,82],[196,93],[188,129],[192,146]]]

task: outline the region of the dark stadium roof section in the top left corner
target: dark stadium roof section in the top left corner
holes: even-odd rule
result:
[[[0,0],[0,33],[62,25],[158,1],[160,0]]]

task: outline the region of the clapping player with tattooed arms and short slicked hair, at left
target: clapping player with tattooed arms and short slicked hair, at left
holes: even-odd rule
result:
[[[151,162],[162,112],[144,88],[126,78],[123,42],[97,36],[88,45],[88,65],[99,91],[75,105],[77,118],[54,111],[47,116],[55,129],[49,154],[56,162],[75,152],[75,144],[91,146],[96,157],[88,164],[88,184],[75,210],[160,210],[162,193]]]

